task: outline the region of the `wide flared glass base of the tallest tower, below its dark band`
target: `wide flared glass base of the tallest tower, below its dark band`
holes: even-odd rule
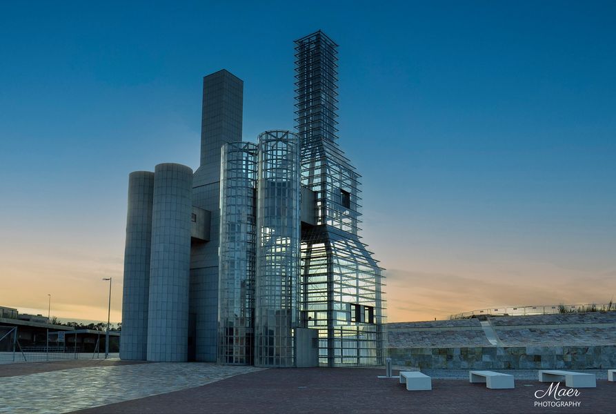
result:
[[[319,330],[319,363],[381,364],[384,281],[366,245],[321,226],[305,229],[301,269],[302,315],[308,328]]]

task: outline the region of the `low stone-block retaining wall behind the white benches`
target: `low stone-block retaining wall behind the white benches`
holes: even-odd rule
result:
[[[616,346],[389,348],[392,363],[419,369],[614,369]]]

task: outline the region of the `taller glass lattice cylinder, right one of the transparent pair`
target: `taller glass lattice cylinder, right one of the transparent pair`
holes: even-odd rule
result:
[[[299,140],[259,135],[255,365],[294,366],[299,312]]]

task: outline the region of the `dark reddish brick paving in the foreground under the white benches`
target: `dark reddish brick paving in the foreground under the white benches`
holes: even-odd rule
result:
[[[550,384],[517,380],[490,390],[467,380],[433,380],[433,391],[406,391],[373,368],[286,368],[237,375],[198,388],[79,413],[614,413],[616,383],[580,388],[579,407],[535,407]]]

